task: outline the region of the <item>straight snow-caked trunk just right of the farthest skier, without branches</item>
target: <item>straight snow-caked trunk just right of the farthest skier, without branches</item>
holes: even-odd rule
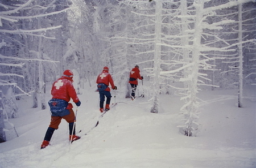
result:
[[[151,113],[158,113],[160,94],[160,57],[161,57],[161,36],[162,36],[162,1],[155,1],[155,51],[153,67],[153,105]]]

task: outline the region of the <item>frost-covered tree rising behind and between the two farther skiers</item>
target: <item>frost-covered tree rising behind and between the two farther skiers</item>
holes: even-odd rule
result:
[[[104,41],[108,48],[102,53],[109,57],[112,67],[113,78],[119,89],[125,90],[125,97],[130,98],[129,72],[133,56],[129,52],[129,37],[132,34],[131,22],[134,15],[131,14],[131,7],[123,3],[109,5],[109,23],[104,24]]]

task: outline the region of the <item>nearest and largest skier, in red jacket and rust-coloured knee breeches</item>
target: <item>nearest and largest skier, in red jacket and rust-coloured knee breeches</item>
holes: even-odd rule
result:
[[[61,76],[60,79],[57,79],[52,84],[52,99],[48,102],[52,113],[51,123],[49,124],[46,135],[44,136],[41,149],[46,148],[49,145],[49,141],[51,140],[53,132],[59,128],[59,124],[62,118],[69,123],[69,140],[75,141],[80,139],[79,136],[76,136],[76,128],[74,126],[75,113],[72,110],[73,106],[71,103],[68,103],[72,98],[73,102],[75,102],[77,106],[81,105],[75,88],[73,87],[72,78],[73,72],[70,70],[65,70],[63,72],[63,76]]]

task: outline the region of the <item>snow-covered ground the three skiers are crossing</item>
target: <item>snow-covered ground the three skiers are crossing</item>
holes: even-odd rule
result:
[[[49,108],[31,109],[31,97],[24,96],[18,101],[19,118],[10,119],[19,137],[0,144],[0,167],[256,167],[255,87],[245,88],[243,108],[237,107],[236,90],[201,91],[197,137],[179,133],[184,102],[178,96],[161,95],[160,113],[152,114],[149,97],[131,102],[119,91],[112,98],[117,106],[99,119],[94,90],[79,95],[76,131],[81,130],[81,139],[69,145],[68,124],[62,120],[51,145],[42,150]]]

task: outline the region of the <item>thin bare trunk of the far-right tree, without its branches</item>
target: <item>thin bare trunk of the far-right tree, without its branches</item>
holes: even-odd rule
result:
[[[243,52],[242,52],[242,4],[238,5],[238,57],[239,57],[239,89],[238,107],[243,107]]]

